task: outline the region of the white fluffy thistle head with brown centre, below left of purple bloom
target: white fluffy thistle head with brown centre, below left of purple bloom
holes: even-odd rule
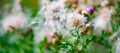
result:
[[[83,17],[81,14],[78,13],[70,13],[67,17],[67,25],[72,27],[78,27],[85,25],[85,22],[87,21],[86,17]]]

